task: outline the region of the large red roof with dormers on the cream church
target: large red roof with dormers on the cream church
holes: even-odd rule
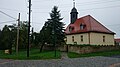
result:
[[[83,29],[81,29],[80,26],[83,26]],[[73,24],[69,24],[65,30],[66,34],[78,34],[85,32],[115,34],[90,15],[78,18]]]

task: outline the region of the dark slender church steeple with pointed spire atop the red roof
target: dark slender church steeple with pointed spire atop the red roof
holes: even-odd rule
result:
[[[71,24],[73,24],[76,19],[78,18],[78,12],[77,9],[75,8],[75,1],[73,0],[73,8],[70,12],[70,17],[71,17]]]

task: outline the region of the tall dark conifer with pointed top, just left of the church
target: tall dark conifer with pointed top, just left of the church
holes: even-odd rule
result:
[[[61,45],[62,42],[64,42],[65,34],[64,34],[64,23],[61,22],[63,18],[60,18],[60,11],[58,11],[58,7],[54,6],[52,9],[52,12],[50,13],[50,19],[48,19],[48,22],[51,27],[51,33],[52,37],[55,36],[56,43],[58,45]],[[54,38],[53,38],[54,39]]]

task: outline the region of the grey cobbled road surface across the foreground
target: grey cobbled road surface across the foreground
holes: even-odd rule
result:
[[[102,56],[53,60],[0,60],[0,67],[120,67],[119,64],[120,58]]]

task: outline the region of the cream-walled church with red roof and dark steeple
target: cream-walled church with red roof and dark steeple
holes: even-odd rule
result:
[[[71,22],[65,30],[67,44],[114,45],[115,33],[91,15],[78,18],[75,2],[70,12],[70,20]]]

